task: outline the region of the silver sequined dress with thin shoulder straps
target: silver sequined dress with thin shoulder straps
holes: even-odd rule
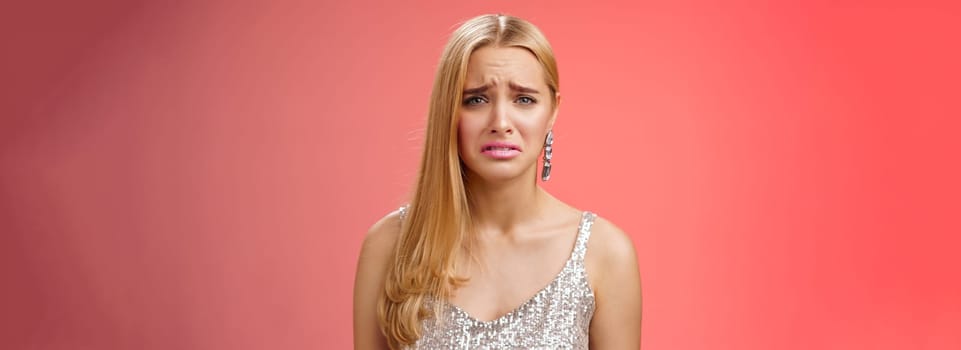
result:
[[[402,219],[405,214],[402,208]],[[587,283],[584,254],[594,217],[584,212],[564,268],[526,302],[483,322],[440,301],[443,315],[424,320],[423,336],[408,349],[587,349],[594,292]]]

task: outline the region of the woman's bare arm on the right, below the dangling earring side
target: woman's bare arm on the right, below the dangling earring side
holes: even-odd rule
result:
[[[639,349],[641,276],[634,243],[617,226],[598,218],[592,228],[586,259],[596,305],[591,320],[590,348]]]

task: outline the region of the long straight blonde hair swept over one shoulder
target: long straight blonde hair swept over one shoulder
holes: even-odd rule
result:
[[[534,54],[544,68],[556,108],[557,63],[537,27],[497,14],[475,17],[454,31],[437,67],[420,173],[378,302],[381,331],[392,349],[420,339],[421,321],[433,317],[437,309],[427,307],[425,298],[446,299],[466,282],[455,274],[455,263],[471,230],[456,119],[468,60],[484,46],[521,47]]]

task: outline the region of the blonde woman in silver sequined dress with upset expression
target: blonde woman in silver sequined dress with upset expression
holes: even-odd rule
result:
[[[634,246],[554,198],[561,95],[532,24],[485,15],[444,49],[413,199],[371,227],[354,288],[357,349],[637,349]]]

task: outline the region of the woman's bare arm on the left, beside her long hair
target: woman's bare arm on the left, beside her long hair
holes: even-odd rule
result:
[[[377,321],[377,298],[384,292],[387,266],[400,232],[398,212],[387,215],[367,232],[354,279],[354,349],[387,349]]]

